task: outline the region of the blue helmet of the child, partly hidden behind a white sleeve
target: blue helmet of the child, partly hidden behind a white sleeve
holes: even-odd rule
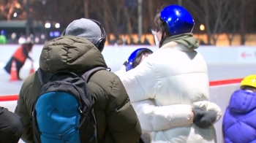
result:
[[[145,47],[135,50],[131,55],[129,55],[127,61],[127,71],[134,69],[136,66],[138,66],[139,63],[136,63],[135,59],[138,58],[138,56],[142,56],[141,53],[143,52],[153,53],[150,49]]]

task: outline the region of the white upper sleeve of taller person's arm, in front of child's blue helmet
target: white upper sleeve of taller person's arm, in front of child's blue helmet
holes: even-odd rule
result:
[[[154,98],[157,93],[157,74],[152,66],[151,56],[145,58],[135,69],[131,69],[118,77],[124,84],[131,102]]]

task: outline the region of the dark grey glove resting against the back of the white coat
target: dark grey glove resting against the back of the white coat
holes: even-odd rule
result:
[[[194,119],[193,123],[199,128],[209,128],[215,122],[217,113],[214,111],[203,111],[203,109],[193,109]]]

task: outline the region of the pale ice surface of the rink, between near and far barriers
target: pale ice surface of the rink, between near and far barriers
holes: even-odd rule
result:
[[[0,96],[17,95],[20,91],[23,81],[10,82],[10,75],[3,69],[4,63],[0,65]],[[35,64],[35,69],[38,65]],[[110,66],[112,71],[117,71],[121,65]],[[25,79],[29,75],[30,64],[26,63],[23,69],[20,70],[20,77]],[[243,78],[249,74],[256,74],[256,64],[252,65],[221,65],[210,64],[208,65],[209,80],[227,80]]]

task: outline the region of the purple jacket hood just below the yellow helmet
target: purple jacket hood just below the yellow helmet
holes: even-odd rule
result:
[[[247,113],[256,108],[256,93],[246,90],[237,90],[230,98],[231,112]]]

